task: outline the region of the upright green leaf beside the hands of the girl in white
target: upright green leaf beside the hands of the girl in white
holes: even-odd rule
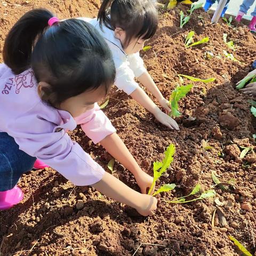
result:
[[[171,113],[170,113],[171,116],[178,117],[181,115],[180,112],[178,111],[179,109],[178,101],[181,98],[185,97],[192,87],[193,87],[193,84],[188,84],[185,86],[177,86],[176,89],[172,92],[169,100],[171,104]]]

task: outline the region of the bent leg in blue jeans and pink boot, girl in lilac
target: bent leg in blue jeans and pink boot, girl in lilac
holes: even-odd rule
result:
[[[35,161],[35,157],[19,149],[10,135],[0,132],[0,210],[9,209],[22,200],[23,193],[16,185]]]

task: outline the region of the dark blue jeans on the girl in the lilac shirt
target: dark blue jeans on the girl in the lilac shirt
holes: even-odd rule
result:
[[[19,149],[15,140],[0,132],[0,191],[12,189],[21,175],[33,168],[36,157]]]

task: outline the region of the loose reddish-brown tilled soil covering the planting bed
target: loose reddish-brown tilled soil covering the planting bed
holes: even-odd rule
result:
[[[1,49],[7,31],[25,11],[44,6],[61,18],[92,17],[100,3],[94,1],[1,1]],[[187,7],[180,8],[186,13]],[[239,158],[239,146],[254,147],[255,120],[248,98],[234,90],[235,83],[251,70],[251,62],[256,59],[255,36],[243,26],[228,27],[222,21],[211,25],[210,15],[201,10],[183,29],[179,28],[179,9],[161,12],[157,35],[148,43],[153,48],[143,58],[164,96],[168,98],[179,83],[177,74],[216,77],[216,81],[195,83],[181,100],[182,116],[177,119],[180,131],[155,122],[145,109],[114,89],[105,113],[149,174],[153,174],[153,162],[162,159],[165,148],[175,144],[172,167],[157,186],[176,183],[177,188],[158,195],[157,211],[143,218],[93,188],[74,187],[52,169],[31,171],[20,182],[25,192],[22,203],[0,212],[1,255],[132,255],[141,243],[158,245],[142,245],[136,255],[241,255],[228,235],[256,255],[256,159],[254,153]],[[203,16],[203,21],[197,15]],[[196,39],[209,36],[210,42],[186,50],[183,42],[191,29],[195,30]],[[223,50],[231,52],[223,43],[223,33],[235,42],[234,55],[242,63],[223,57]],[[205,51],[222,58],[205,59]],[[196,119],[191,121],[189,116]],[[71,137],[106,168],[109,155],[100,145],[93,145],[81,129],[71,133]],[[203,150],[203,139],[209,140],[207,143],[213,148]],[[223,157],[218,153],[223,153]],[[138,190],[134,178],[122,165],[116,163],[114,169],[116,177]],[[203,190],[209,189],[213,185],[212,170],[221,181],[236,182],[235,189],[229,191],[215,187],[215,198],[219,199],[217,203],[228,223],[225,227],[221,227],[218,218],[215,227],[211,226],[216,207],[212,198],[182,205],[165,203],[188,194],[196,183]]]

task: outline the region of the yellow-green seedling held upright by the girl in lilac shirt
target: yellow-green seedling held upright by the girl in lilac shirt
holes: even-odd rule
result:
[[[167,168],[171,165],[173,162],[173,155],[175,153],[175,146],[173,144],[169,145],[165,152],[164,152],[164,159],[162,162],[154,162],[153,164],[153,171],[154,171],[154,178],[153,183],[148,191],[148,194],[151,194],[152,189],[156,185],[156,181],[163,175],[164,172],[166,172]],[[175,184],[166,184],[163,185],[161,188],[159,188],[153,195],[157,195],[163,191],[167,192],[171,189],[175,188]]]

